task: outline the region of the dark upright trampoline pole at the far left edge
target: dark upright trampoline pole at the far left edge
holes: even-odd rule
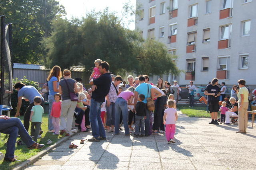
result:
[[[0,95],[0,105],[3,104],[4,97],[4,37],[5,37],[5,16],[1,16],[1,95]],[[2,110],[1,110],[2,112]]]

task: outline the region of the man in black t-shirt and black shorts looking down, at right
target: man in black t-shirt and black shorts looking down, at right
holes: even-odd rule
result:
[[[208,109],[211,114],[212,121],[209,124],[218,125],[217,116],[219,111],[219,100],[218,96],[220,96],[220,88],[218,85],[218,79],[212,79],[211,84],[206,86],[204,90],[204,94],[208,96]]]

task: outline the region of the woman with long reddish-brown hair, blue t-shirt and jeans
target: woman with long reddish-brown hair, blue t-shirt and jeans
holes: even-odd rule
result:
[[[50,70],[49,76],[47,78],[48,80],[48,89],[49,89],[49,118],[48,118],[48,130],[53,132],[54,127],[52,125],[52,118],[50,117],[51,111],[52,111],[52,104],[55,101],[54,100],[54,94],[58,93],[59,88],[59,81],[62,77],[60,66],[53,66]]]

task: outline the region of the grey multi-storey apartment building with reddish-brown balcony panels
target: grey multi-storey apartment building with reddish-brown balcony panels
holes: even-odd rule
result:
[[[137,0],[136,30],[164,43],[184,70],[179,84],[256,85],[256,0]]]

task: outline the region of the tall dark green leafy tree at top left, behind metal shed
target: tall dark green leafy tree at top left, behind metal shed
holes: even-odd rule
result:
[[[51,33],[52,20],[65,14],[57,0],[1,0],[0,15],[13,24],[13,63],[38,63],[40,41]]]

